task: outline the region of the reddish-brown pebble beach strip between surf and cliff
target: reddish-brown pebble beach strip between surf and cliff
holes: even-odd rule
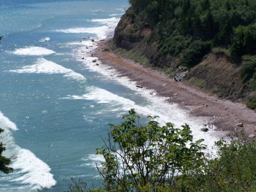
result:
[[[122,58],[109,49],[109,41],[111,38],[97,41],[98,47],[94,50],[93,56],[99,58],[101,64],[116,69],[116,75],[127,76],[136,82],[138,88],[153,89],[157,95],[168,97],[167,102],[178,104],[192,116],[206,117],[208,122],[216,126],[216,131],[228,131],[229,136],[233,136],[244,128],[247,136],[255,136],[256,111],[246,108],[242,103],[233,103],[203,93],[184,82],[170,79],[160,71]],[[238,126],[239,123],[243,123],[243,127]]]

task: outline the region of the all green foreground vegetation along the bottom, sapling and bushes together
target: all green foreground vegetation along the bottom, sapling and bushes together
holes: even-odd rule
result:
[[[148,116],[143,126],[133,109],[123,118],[120,125],[110,124],[105,145],[96,149],[105,158],[96,165],[102,188],[71,178],[68,192],[255,192],[256,142],[247,141],[243,131],[241,138],[219,140],[207,152],[203,140],[192,142],[188,125],[160,127],[157,116]]]

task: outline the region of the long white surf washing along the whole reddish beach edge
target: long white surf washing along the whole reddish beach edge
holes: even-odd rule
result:
[[[127,114],[127,111],[131,108],[134,108],[137,114],[140,116],[160,116],[160,118],[157,119],[157,121],[160,123],[160,126],[165,125],[167,122],[172,122],[175,124],[175,128],[182,128],[181,126],[185,125],[186,123],[191,128],[194,141],[204,139],[203,143],[207,145],[210,150],[212,150],[211,147],[214,145],[214,142],[219,140],[224,135],[224,132],[215,131],[215,127],[213,129],[209,129],[208,132],[201,131],[201,128],[204,127],[204,120],[207,121],[206,117],[190,116],[187,113],[188,111],[180,109],[177,104],[168,103],[166,100],[169,98],[158,96],[155,90],[137,88],[137,82],[131,81],[131,79],[125,76],[120,78],[119,75],[121,74],[113,69],[113,67],[103,65],[101,61],[98,60],[98,58],[91,56],[91,52],[97,48],[97,44],[95,42],[83,42],[85,47],[81,46],[79,49],[76,49],[74,55],[76,58],[86,58],[80,61],[83,62],[84,66],[86,66],[88,70],[98,72],[102,74],[106,79],[116,80],[119,82],[119,84],[122,84],[123,86],[132,90],[134,94],[143,96],[149,104],[142,106],[140,104],[136,104],[131,99],[123,98],[122,96],[118,96],[98,87],[91,87],[91,90],[87,89],[89,92],[84,95],[68,96],[66,99],[94,100],[99,104],[105,105],[104,110],[117,111],[118,118],[124,114]],[[97,60],[96,63],[99,65],[96,65],[96,63],[93,62],[95,59]],[[102,111],[99,111],[98,113],[103,114]],[[98,166],[100,166],[99,162],[104,161],[104,157],[102,155],[88,154],[82,158],[82,160],[84,161],[84,164],[81,166],[90,166],[95,168],[96,163],[98,163]]]

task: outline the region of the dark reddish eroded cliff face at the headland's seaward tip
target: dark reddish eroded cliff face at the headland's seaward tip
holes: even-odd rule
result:
[[[165,57],[158,56],[157,43],[148,43],[151,29],[139,20],[129,17],[127,14],[121,17],[119,21],[113,42],[116,47],[137,52],[149,59],[153,67],[172,67],[175,64],[175,58],[171,55]]]

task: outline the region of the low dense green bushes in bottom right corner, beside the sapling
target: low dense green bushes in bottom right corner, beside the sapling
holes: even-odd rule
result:
[[[256,143],[233,140],[215,143],[214,159],[208,160],[202,174],[183,174],[177,178],[178,191],[241,192],[256,189]]]

